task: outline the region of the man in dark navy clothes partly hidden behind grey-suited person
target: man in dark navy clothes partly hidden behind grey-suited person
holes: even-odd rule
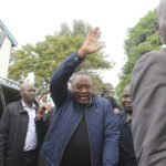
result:
[[[124,111],[117,114],[120,127],[120,160],[118,166],[137,166],[132,137],[132,101],[131,85],[126,85],[122,94]]]

